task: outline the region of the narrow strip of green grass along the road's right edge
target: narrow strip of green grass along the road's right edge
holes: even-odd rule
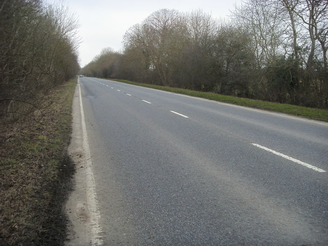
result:
[[[173,93],[179,93],[189,96],[196,96],[201,98],[206,98],[210,100],[220,101],[222,103],[228,103],[228,104],[234,104],[239,106],[245,106],[245,107],[251,107],[256,109],[262,109],[262,110],[269,110],[274,112],[280,112],[290,115],[296,115],[301,116],[309,119],[315,119],[315,120],[321,120],[321,121],[327,121],[328,122],[328,110],[324,109],[313,109],[313,108],[306,108],[306,107],[300,107],[290,104],[279,104],[279,103],[272,103],[270,101],[262,101],[262,100],[255,100],[255,99],[248,99],[248,98],[240,98],[235,96],[226,96],[226,95],[220,95],[216,93],[211,92],[199,92],[199,91],[192,91],[187,89],[180,89],[180,88],[172,88],[172,87],[164,87],[164,86],[157,86],[157,85],[150,85],[150,84],[144,84],[144,83],[136,83],[128,80],[123,79],[109,79],[114,80],[130,85],[135,86],[142,86],[142,87],[148,87],[163,91],[169,91]]]

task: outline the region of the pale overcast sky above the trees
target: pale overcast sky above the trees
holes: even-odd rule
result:
[[[58,0],[48,0],[53,3]],[[80,28],[80,66],[87,65],[101,49],[122,48],[125,32],[159,9],[176,9],[191,12],[202,9],[214,18],[224,18],[240,5],[240,0],[63,0],[78,16]]]

